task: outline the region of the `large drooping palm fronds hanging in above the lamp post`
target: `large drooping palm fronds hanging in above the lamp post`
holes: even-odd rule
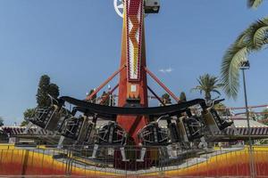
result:
[[[263,0],[248,0],[249,8],[258,7]],[[228,97],[236,98],[239,92],[239,67],[247,61],[249,53],[264,49],[268,44],[268,17],[256,20],[230,45],[222,59],[222,84]]]

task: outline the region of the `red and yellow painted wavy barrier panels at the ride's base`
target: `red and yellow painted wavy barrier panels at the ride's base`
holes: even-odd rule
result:
[[[41,147],[40,147],[41,148]],[[40,149],[39,148],[39,149]],[[43,147],[42,147],[43,148]],[[46,149],[45,147],[43,149]],[[268,147],[254,148],[255,173],[257,176],[268,176]],[[45,150],[44,150],[45,151]],[[0,145],[0,175],[82,175],[89,177],[121,176],[90,170],[77,165],[68,165],[44,154],[42,150],[18,150],[13,145]],[[140,174],[141,175],[141,174]],[[184,168],[168,171],[155,171],[142,174],[155,177],[164,175],[177,176],[246,176],[249,175],[248,150],[236,150],[216,155],[206,161]]]

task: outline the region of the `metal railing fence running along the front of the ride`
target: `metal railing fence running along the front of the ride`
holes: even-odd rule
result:
[[[121,161],[120,148],[103,147],[96,158],[93,148],[54,146],[0,146],[1,176],[86,176],[86,177],[179,177],[179,176],[268,176],[268,147],[178,150],[147,148],[144,161],[140,149],[126,148],[129,161]],[[254,163],[250,173],[249,162]]]

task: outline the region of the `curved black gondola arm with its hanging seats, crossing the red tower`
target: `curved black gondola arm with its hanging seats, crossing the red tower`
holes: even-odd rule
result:
[[[51,101],[50,107],[36,109],[35,117],[30,122],[41,128],[61,133],[63,138],[75,141],[74,145],[94,145],[90,158],[97,157],[97,151],[100,147],[113,146],[119,147],[122,160],[128,161],[124,151],[128,136],[121,125],[114,121],[118,115],[136,113],[139,116],[159,117],[157,121],[150,122],[139,130],[138,139],[142,149],[137,161],[144,160],[147,147],[159,146],[163,148],[180,142],[195,142],[204,137],[205,125],[211,133],[214,133],[222,131],[232,124],[219,117],[214,109],[214,103],[208,107],[202,99],[153,108],[109,107],[71,97],[61,97],[56,100],[52,98]],[[74,104],[76,107],[69,111],[63,108],[64,102]],[[189,109],[195,105],[201,106],[202,115],[199,117],[193,116]],[[76,117],[77,111],[83,113],[83,116]],[[109,122],[96,130],[98,117],[105,118]],[[163,118],[167,121],[167,129],[162,128],[158,123]],[[63,139],[60,142],[63,142]]]

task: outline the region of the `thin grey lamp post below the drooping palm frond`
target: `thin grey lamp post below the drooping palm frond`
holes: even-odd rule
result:
[[[250,176],[255,177],[255,163],[254,163],[254,155],[253,155],[253,147],[251,140],[251,128],[249,124],[249,112],[247,106],[247,87],[246,87],[246,76],[245,70],[250,68],[249,61],[242,61],[239,69],[242,70],[243,74],[243,85],[244,85],[244,95],[245,95],[245,105],[246,105],[246,114],[247,114],[247,134],[248,134],[248,144],[249,144],[249,167],[250,167]]]

